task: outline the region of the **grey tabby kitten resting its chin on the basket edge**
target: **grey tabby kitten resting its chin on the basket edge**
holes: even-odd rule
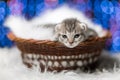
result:
[[[63,43],[68,48],[74,48],[90,36],[97,36],[97,33],[89,29],[83,22],[75,18],[63,20],[59,24],[46,24],[44,27],[54,27],[52,40]]]

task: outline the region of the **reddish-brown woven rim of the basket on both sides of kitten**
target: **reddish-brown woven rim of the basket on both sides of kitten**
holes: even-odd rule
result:
[[[89,44],[89,43],[93,43],[95,41],[104,41],[106,39],[111,38],[111,33],[107,30],[104,30],[106,32],[106,35],[103,37],[91,37],[89,38],[87,41],[81,42],[80,46]],[[35,44],[47,44],[47,45],[61,45],[60,42],[56,42],[56,41],[50,41],[50,40],[35,40],[35,39],[24,39],[24,38],[20,38],[17,37],[16,35],[14,35],[13,32],[9,32],[7,34],[7,37],[14,42],[27,42],[27,43],[35,43]]]

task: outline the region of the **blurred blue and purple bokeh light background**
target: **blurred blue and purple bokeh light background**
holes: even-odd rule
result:
[[[94,23],[110,30],[112,38],[107,41],[106,49],[120,52],[120,0],[0,0],[0,47],[10,48],[14,44],[7,38],[10,30],[3,25],[7,16],[24,16],[30,20],[63,4],[82,11]]]

